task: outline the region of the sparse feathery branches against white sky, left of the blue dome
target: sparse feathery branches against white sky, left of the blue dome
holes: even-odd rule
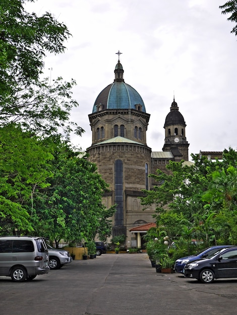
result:
[[[25,130],[48,137],[60,132],[69,140],[73,130],[81,135],[84,130],[76,123],[70,122],[70,112],[78,103],[72,99],[74,80],[64,82],[62,77],[53,80],[48,78],[35,81],[34,85],[25,87],[19,83],[17,93],[0,107],[2,124],[18,123]],[[10,102],[9,102],[10,101]]]

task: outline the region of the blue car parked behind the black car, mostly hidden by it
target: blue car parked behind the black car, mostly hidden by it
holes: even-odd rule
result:
[[[200,252],[198,252],[195,255],[191,255],[191,256],[186,256],[186,257],[182,257],[179,258],[175,261],[174,263],[174,271],[178,272],[178,273],[182,273],[184,274],[184,267],[187,263],[190,263],[192,261],[198,260],[198,259],[202,259],[207,257],[208,255],[212,254],[212,253],[216,253],[219,251],[219,249],[222,248],[228,248],[228,247],[233,247],[231,245],[216,245],[216,246],[211,246],[208,247]]]

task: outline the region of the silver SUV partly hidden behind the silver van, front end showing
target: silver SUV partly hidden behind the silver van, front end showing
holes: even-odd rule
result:
[[[72,257],[69,252],[63,249],[53,248],[49,244],[47,244],[47,249],[49,255],[48,265],[50,269],[59,269],[72,262]]]

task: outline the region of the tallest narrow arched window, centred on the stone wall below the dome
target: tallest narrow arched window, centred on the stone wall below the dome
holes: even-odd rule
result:
[[[116,204],[116,212],[114,214],[114,225],[124,225],[124,175],[123,162],[116,160],[114,163],[114,197]]]

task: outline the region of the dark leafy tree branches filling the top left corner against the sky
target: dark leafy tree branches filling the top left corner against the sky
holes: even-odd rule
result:
[[[38,81],[45,53],[61,53],[68,28],[46,12],[29,14],[24,3],[34,0],[2,0],[0,5],[0,106],[16,94],[19,82]],[[9,102],[8,102],[9,103]]]

